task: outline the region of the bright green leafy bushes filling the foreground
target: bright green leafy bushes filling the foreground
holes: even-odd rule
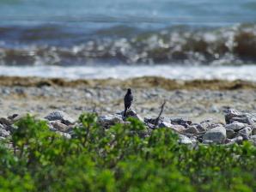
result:
[[[170,129],[135,119],[102,129],[83,114],[71,139],[34,117],[0,147],[0,191],[255,191],[256,148],[177,143]]]

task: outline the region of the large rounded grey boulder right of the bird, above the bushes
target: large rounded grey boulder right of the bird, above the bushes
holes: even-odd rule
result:
[[[206,131],[203,135],[203,141],[210,140],[215,143],[223,143],[227,138],[226,129],[223,127],[216,127]]]

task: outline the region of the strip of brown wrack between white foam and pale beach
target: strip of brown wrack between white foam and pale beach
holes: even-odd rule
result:
[[[159,87],[165,90],[236,90],[236,89],[256,89],[254,81],[227,81],[227,80],[172,80],[159,76],[143,76],[129,78],[126,80],[107,79],[79,79],[67,80],[64,78],[41,78],[41,77],[21,77],[21,76],[0,76],[0,86],[4,87],[136,87],[149,88]]]

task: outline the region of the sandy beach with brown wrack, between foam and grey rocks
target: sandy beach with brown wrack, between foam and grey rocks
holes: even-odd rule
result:
[[[71,117],[84,111],[115,113],[123,110],[127,87],[135,98],[132,108],[142,117],[157,116],[163,100],[167,100],[163,116],[195,122],[206,118],[223,122],[222,111],[228,107],[256,112],[256,83],[250,81],[173,81],[161,77],[67,81],[1,76],[0,116],[32,112],[44,117],[56,110]]]

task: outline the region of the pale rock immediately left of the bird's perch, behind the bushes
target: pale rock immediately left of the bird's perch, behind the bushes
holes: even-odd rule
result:
[[[124,123],[124,121],[121,115],[115,114],[99,117],[98,123],[100,123],[104,128],[109,128],[116,123]]]

